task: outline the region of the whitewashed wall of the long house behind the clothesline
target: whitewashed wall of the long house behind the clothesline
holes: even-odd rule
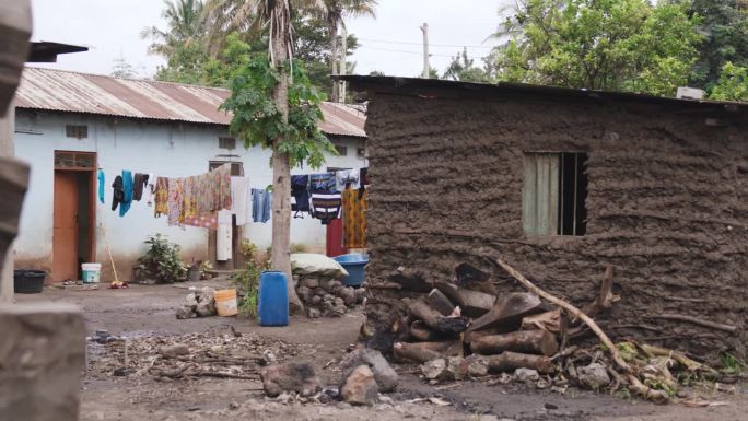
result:
[[[67,138],[66,125],[87,125],[89,137],[81,140]],[[179,244],[187,259],[207,258],[207,230],[168,226],[165,218],[153,218],[153,209],[145,206],[144,201],[133,201],[130,211],[120,218],[118,212],[110,210],[109,186],[122,169],[182,177],[206,173],[209,161],[242,161],[252,187],[265,188],[271,184],[270,151],[260,148],[246,150],[238,144],[233,151],[219,149],[218,137],[226,136],[225,130],[225,127],[220,126],[136,121],[106,116],[19,109],[15,128],[16,155],[31,164],[32,175],[16,241],[16,262],[25,267],[51,268],[56,150],[96,152],[98,166],[106,173],[105,203],[96,202],[97,261],[108,261],[102,229],[106,230],[112,253],[118,269],[124,267],[124,273],[129,273],[135,259],[145,249],[142,242],[154,233],[165,234],[172,242]],[[326,166],[364,166],[364,161],[357,157],[357,148],[363,148],[363,140],[346,139],[342,143],[349,147],[348,155],[330,156]],[[311,172],[315,171],[294,168],[293,174]],[[269,221],[266,224],[249,223],[244,232],[246,237],[261,248],[270,246]],[[308,217],[304,220],[292,219],[291,241],[319,249],[325,245],[325,226]]]

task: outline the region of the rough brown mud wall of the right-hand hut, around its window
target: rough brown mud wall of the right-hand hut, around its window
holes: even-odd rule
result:
[[[481,256],[490,249],[583,305],[612,265],[622,300],[601,324],[613,337],[700,355],[745,353],[745,112],[542,95],[369,95],[371,283],[391,281],[398,267],[452,279],[467,261],[492,271],[501,291],[517,290]],[[524,151],[588,153],[586,235],[524,234]],[[667,313],[736,325],[739,334],[651,317]]]

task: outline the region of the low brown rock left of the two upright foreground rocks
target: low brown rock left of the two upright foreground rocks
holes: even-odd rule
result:
[[[322,390],[322,384],[314,374],[314,367],[307,363],[269,365],[260,370],[260,378],[265,394],[271,398],[284,391],[308,397]]]

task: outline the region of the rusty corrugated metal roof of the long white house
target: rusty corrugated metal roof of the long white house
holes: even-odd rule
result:
[[[229,91],[179,83],[119,79],[26,67],[16,92],[19,108],[101,114],[131,118],[227,126],[231,114],[219,110]],[[355,107],[324,103],[328,135],[365,137],[366,116]]]

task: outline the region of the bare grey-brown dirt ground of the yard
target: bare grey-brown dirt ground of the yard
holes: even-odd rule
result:
[[[210,281],[177,285],[133,285],[127,290],[75,291],[46,288],[44,293],[17,295],[19,302],[63,301],[83,308],[87,329],[107,329],[112,335],[137,338],[189,332],[255,332],[270,339],[304,344],[301,360],[313,363],[327,385],[338,383],[336,362],[355,341],[361,312],[338,319],[293,317],[288,327],[264,328],[254,320],[236,318],[194,318],[177,320],[175,308],[190,285],[217,286]],[[104,285],[103,285],[104,286]],[[220,286],[220,285],[218,285]],[[95,354],[90,355],[96,359]],[[570,389],[565,395],[525,386],[463,382],[431,386],[412,367],[396,367],[402,373],[399,390],[373,408],[348,404],[301,404],[266,398],[259,381],[199,379],[156,382],[149,377],[101,377],[86,375],[82,389],[81,421],[208,421],[233,419],[262,420],[589,420],[589,421],[667,421],[667,420],[746,420],[748,385],[735,394],[698,390],[701,397],[724,405],[687,408],[681,405],[655,406],[635,399],[595,395]],[[451,405],[433,404],[441,398]],[[389,399],[391,400],[389,400]],[[426,398],[426,399],[423,399]]]

